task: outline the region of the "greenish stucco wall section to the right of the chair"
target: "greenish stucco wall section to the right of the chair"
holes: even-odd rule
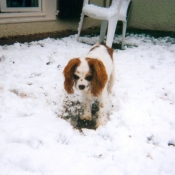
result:
[[[132,0],[130,27],[175,31],[175,0]]]

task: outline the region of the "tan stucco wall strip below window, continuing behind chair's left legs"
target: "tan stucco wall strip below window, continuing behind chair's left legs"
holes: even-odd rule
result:
[[[45,22],[29,22],[29,23],[12,23],[12,24],[0,24],[0,38],[20,36],[20,35],[34,35],[42,33],[52,33],[63,30],[77,30],[79,19],[70,20],[56,20]],[[83,29],[90,28],[92,26],[100,25],[97,20],[90,18],[86,19],[83,25]]]

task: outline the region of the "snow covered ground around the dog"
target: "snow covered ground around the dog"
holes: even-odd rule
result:
[[[64,119],[81,101],[64,92],[63,68],[97,39],[0,46],[0,175],[175,175],[175,39],[127,36],[107,124]]]

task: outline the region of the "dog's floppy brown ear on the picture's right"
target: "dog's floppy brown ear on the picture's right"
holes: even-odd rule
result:
[[[94,96],[100,95],[108,80],[105,66],[102,61],[95,58],[86,58],[92,71],[91,93]]]

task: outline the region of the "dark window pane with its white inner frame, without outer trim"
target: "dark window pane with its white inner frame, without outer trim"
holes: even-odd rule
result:
[[[1,12],[41,11],[41,0],[0,0]]]

